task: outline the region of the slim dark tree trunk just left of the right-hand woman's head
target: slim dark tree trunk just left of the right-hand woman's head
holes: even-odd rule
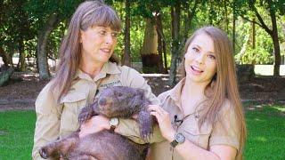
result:
[[[179,30],[180,30],[180,1],[175,6],[171,7],[171,24],[172,24],[172,47],[171,47],[171,66],[169,73],[169,84],[175,86],[176,84],[176,66],[179,54]]]

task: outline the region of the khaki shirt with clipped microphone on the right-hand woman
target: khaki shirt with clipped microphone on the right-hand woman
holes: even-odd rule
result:
[[[200,148],[209,149],[213,145],[229,145],[233,148],[239,149],[239,137],[240,132],[236,124],[236,118],[233,107],[229,100],[225,100],[223,108],[221,109],[219,116],[222,117],[221,121],[213,127],[209,124],[203,124],[201,129],[198,127],[199,114],[202,110],[191,108],[192,113],[189,116],[184,116],[181,107],[181,91],[183,88],[185,79],[179,84],[167,92],[163,92],[159,95],[160,105],[164,108],[171,117],[173,128],[176,132],[181,132],[187,140],[190,140]],[[176,116],[176,123],[175,123]],[[177,122],[183,119],[183,123]],[[123,125],[121,125],[123,126]],[[135,124],[128,124],[121,127],[119,132],[128,136],[131,140],[138,143],[145,142],[144,140],[136,139],[139,136],[139,132],[134,127]],[[155,127],[153,137],[151,137],[151,159],[157,160],[181,160],[182,156],[170,146],[170,142],[164,140],[158,132],[158,127]],[[153,143],[155,142],[155,143]]]

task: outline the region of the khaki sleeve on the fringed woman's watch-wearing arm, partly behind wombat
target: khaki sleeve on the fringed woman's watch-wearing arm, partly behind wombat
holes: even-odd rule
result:
[[[147,84],[147,81],[142,77],[139,72],[137,72],[133,68],[128,68],[124,66],[122,67],[121,79],[123,85],[125,86],[143,89],[145,91],[146,98],[151,101],[151,104],[159,105],[158,98],[151,92],[151,86]],[[151,134],[151,138],[149,140],[142,140],[142,138],[140,137],[139,125],[136,123],[136,121],[132,119],[120,118],[118,129],[116,130],[116,132],[140,144],[153,143],[164,140],[159,131],[158,124],[153,127],[153,133]]]

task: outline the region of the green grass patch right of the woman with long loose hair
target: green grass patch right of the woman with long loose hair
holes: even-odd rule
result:
[[[285,158],[285,106],[256,105],[246,114],[246,159]]]

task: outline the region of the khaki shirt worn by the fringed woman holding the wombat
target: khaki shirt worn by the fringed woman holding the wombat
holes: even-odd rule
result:
[[[93,102],[97,90],[100,91],[110,86],[142,88],[147,91],[146,97],[151,100],[152,104],[159,104],[159,100],[151,93],[151,87],[133,68],[120,67],[108,62],[94,79],[78,70],[74,83],[61,99],[60,104],[55,101],[51,83],[46,84],[39,93],[36,100],[37,122],[32,151],[33,159],[42,159],[38,154],[38,149],[46,143],[77,131],[79,127],[77,116],[80,110]],[[127,125],[123,119],[120,120],[120,124]]]

